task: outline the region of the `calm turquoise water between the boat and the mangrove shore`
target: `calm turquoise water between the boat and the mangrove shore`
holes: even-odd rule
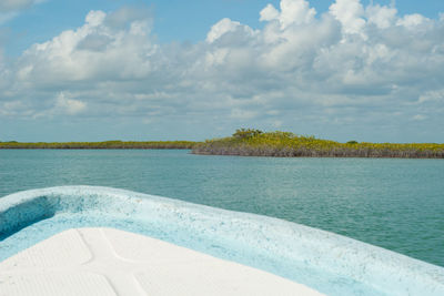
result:
[[[0,150],[0,196],[102,185],[274,216],[444,266],[444,161]]]

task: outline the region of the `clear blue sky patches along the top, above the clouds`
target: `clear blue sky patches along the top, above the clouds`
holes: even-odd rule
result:
[[[36,42],[43,42],[63,30],[75,29],[84,21],[90,10],[110,12],[122,6],[145,6],[154,17],[153,32],[159,41],[164,42],[199,42],[204,39],[209,28],[223,18],[249,24],[252,28],[262,28],[259,21],[259,11],[268,3],[279,7],[278,0],[168,0],[168,1],[130,1],[130,0],[47,0],[21,13],[7,22],[8,53],[20,54],[22,50]],[[331,0],[312,0],[310,4],[317,12],[329,10]],[[361,1],[369,4],[371,1]],[[373,3],[395,4],[400,14],[421,13],[427,18],[438,18],[444,11],[444,1],[441,0],[374,0]]]

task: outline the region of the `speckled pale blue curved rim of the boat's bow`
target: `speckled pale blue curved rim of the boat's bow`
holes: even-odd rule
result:
[[[327,295],[444,295],[444,268],[266,216],[93,186],[0,198],[0,261],[74,227],[160,238],[305,284]]]

